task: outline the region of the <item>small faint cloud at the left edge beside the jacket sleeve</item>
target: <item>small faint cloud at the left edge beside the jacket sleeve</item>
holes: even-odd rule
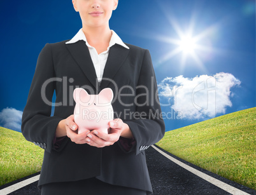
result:
[[[0,124],[10,130],[21,131],[22,111],[7,107],[0,112]]]

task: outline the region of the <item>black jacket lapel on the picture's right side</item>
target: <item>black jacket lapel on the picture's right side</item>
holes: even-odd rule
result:
[[[120,46],[119,44],[114,44],[111,46],[109,52],[108,60],[104,68],[103,80],[101,81],[101,89],[106,88],[108,84],[110,84],[109,80],[113,79],[120,67],[124,65],[129,50],[123,46]]]

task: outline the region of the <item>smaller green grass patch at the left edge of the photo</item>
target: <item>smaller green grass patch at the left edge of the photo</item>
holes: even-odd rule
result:
[[[0,185],[40,171],[43,152],[22,133],[0,127]]]

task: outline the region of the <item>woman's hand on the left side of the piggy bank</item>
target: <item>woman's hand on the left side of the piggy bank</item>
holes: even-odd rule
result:
[[[60,121],[56,129],[56,137],[68,136],[76,144],[86,144],[85,138],[90,131],[77,134],[77,129],[78,125],[74,121],[74,115],[71,115]]]

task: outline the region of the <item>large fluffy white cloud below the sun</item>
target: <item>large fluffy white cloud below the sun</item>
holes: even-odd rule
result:
[[[159,84],[160,102],[164,102],[162,97],[168,98],[169,106],[181,118],[214,118],[232,106],[231,88],[240,84],[239,79],[225,72],[194,78],[166,77]]]

